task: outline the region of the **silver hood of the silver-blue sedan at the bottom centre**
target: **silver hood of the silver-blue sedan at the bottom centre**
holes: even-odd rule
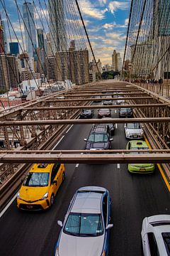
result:
[[[98,237],[77,237],[62,233],[59,243],[60,256],[101,256],[104,234]]]

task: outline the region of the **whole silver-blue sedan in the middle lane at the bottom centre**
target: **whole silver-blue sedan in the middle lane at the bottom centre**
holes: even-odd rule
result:
[[[55,256],[108,256],[111,198],[106,188],[87,186],[74,194],[55,246]]]

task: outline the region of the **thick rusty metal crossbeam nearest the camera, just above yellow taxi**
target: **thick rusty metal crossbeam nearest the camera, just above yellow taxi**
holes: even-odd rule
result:
[[[2,154],[0,163],[140,164],[170,163],[170,154]]]

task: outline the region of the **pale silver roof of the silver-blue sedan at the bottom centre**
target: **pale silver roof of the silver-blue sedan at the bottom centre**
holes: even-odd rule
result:
[[[101,213],[103,193],[95,191],[78,191],[72,213]]]

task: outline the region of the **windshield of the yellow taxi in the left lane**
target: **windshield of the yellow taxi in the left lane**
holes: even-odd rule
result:
[[[30,172],[23,182],[23,186],[48,186],[49,173],[46,172]]]

